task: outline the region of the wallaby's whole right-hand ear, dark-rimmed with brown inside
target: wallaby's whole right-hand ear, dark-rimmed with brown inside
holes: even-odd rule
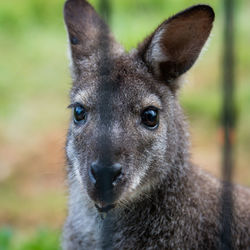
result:
[[[198,58],[214,21],[214,11],[197,5],[163,22],[139,45],[138,52],[153,74],[168,83],[189,70]]]

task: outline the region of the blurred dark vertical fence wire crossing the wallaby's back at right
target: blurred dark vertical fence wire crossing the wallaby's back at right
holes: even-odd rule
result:
[[[233,249],[233,186],[232,174],[233,139],[235,128],[234,103],[234,1],[224,0],[224,55],[223,55],[223,166],[222,166],[222,194],[221,194],[221,242],[219,249]]]

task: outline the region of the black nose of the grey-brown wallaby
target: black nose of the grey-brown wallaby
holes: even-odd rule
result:
[[[101,163],[94,162],[89,169],[91,182],[106,189],[115,186],[121,174],[122,167],[119,163],[111,166],[104,166]]]

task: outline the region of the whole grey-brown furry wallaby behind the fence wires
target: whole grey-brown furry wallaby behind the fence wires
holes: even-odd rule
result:
[[[127,53],[85,0],[68,0],[73,87],[63,249],[228,249],[221,187],[190,163],[178,90],[214,21],[207,5]],[[234,186],[232,247],[250,249],[250,191]],[[105,217],[106,215],[106,217]]]

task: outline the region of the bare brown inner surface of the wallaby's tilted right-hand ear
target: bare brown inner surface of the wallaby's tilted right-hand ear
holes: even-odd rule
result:
[[[163,53],[171,61],[195,60],[210,34],[212,21],[204,11],[170,19],[160,41]]]

